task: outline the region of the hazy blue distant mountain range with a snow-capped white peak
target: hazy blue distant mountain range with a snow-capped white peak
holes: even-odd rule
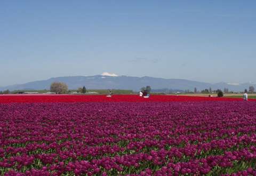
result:
[[[50,89],[52,82],[65,82],[69,89],[76,90],[78,87],[85,86],[86,89],[129,89],[138,91],[141,87],[150,85],[152,89],[171,89],[171,90],[190,90],[194,91],[196,87],[198,91],[212,88],[212,90],[228,88],[230,91],[243,91],[249,89],[256,84],[229,84],[217,83],[210,84],[197,81],[189,81],[186,79],[164,79],[155,77],[132,77],[132,76],[116,76],[116,75],[95,75],[95,76],[67,76],[54,77],[42,81],[34,81],[25,84],[17,84],[0,87],[0,90],[43,90]]]

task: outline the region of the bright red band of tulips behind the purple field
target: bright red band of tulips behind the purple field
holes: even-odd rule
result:
[[[241,98],[194,97],[183,95],[0,95],[0,103],[10,102],[188,102],[188,101],[243,101]],[[249,101],[256,101],[249,99]]]

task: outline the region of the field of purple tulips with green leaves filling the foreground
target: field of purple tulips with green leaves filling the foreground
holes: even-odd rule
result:
[[[0,103],[1,175],[256,175],[256,101]]]

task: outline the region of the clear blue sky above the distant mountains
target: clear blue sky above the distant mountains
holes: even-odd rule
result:
[[[0,86],[58,76],[256,82],[256,1],[0,1]]]

